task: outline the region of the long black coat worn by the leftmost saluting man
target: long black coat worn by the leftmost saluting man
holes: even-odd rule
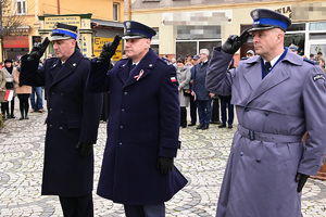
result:
[[[93,154],[82,157],[78,141],[96,143],[102,94],[86,90],[89,60],[79,50],[62,65],[52,58],[38,69],[38,61],[22,58],[20,81],[45,87],[47,132],[42,195],[80,196],[93,188]]]

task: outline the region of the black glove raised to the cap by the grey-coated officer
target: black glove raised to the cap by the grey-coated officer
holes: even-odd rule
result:
[[[243,30],[241,36],[230,35],[227,40],[223,43],[221,51],[224,53],[235,54],[237,50],[247,41],[249,38],[248,29]]]

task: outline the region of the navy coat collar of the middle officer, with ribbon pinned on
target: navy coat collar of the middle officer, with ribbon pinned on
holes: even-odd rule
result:
[[[133,71],[130,71],[133,61],[130,59],[127,59],[127,61],[121,65],[117,75],[121,80],[125,82],[125,87],[133,85],[151,74],[158,59],[159,56],[156,55],[156,53],[152,49],[150,49]],[[127,79],[124,79],[125,73],[128,73]]]

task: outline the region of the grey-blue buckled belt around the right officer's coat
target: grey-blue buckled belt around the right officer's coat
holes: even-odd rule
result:
[[[258,140],[264,142],[274,142],[274,143],[292,143],[292,142],[301,142],[302,136],[299,135],[274,135],[274,133],[265,133],[260,131],[254,131],[250,129],[246,129],[241,125],[238,125],[238,132],[250,140]]]

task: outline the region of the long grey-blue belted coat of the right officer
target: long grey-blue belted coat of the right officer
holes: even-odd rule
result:
[[[231,93],[239,120],[216,216],[301,217],[296,175],[316,175],[324,161],[324,72],[287,51],[262,79],[261,56],[227,72],[231,58],[215,48],[206,77],[210,91]]]

